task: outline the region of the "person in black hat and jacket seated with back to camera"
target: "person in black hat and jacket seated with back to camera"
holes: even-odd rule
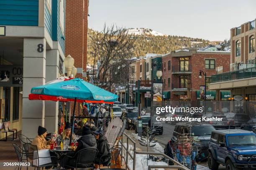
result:
[[[67,153],[68,156],[73,157],[79,150],[85,149],[85,148],[97,148],[97,142],[95,137],[92,135],[91,130],[87,127],[83,128],[83,132],[82,132],[82,137],[79,138],[79,140],[77,140],[78,142],[78,146],[77,149],[75,150],[75,152],[69,152]],[[84,155],[86,156],[86,155]],[[67,156],[65,156],[63,159],[61,159],[60,165],[63,168],[68,168],[67,165],[75,167],[76,166],[76,161],[77,158],[69,158]],[[79,168],[88,168],[88,167],[92,167],[93,165],[88,164],[88,165],[84,165],[83,167],[79,167]]]

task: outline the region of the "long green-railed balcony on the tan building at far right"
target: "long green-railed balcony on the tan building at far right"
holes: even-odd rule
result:
[[[256,67],[244,68],[236,71],[223,72],[220,74],[212,75],[212,82],[223,82],[250,77],[256,77]]]

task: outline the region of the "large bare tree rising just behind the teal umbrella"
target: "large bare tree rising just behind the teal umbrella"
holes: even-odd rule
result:
[[[104,25],[102,32],[93,32],[89,40],[93,67],[96,64],[99,66],[92,76],[94,84],[100,87],[107,85],[108,88],[113,84],[127,84],[136,38],[128,34],[125,28]]]

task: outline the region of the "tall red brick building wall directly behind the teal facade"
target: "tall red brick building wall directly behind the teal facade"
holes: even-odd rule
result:
[[[65,56],[74,58],[76,77],[86,77],[88,0],[67,0]]]

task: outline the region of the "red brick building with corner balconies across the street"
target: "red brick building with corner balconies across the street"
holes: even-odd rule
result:
[[[205,85],[204,76],[199,78],[199,70],[206,72],[208,84],[216,70],[229,70],[229,60],[230,52],[225,51],[176,50],[164,55],[164,99],[197,100],[200,85]],[[207,96],[207,99],[216,99],[215,91],[208,91]]]

